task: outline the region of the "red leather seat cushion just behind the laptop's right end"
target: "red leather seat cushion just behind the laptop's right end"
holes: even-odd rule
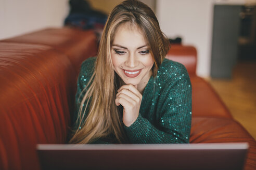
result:
[[[245,169],[256,169],[256,141],[233,119],[193,117],[190,143],[249,143]]]

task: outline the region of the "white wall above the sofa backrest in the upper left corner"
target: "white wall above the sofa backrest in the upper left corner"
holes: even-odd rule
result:
[[[0,0],[0,39],[61,27],[68,13],[68,0]]]

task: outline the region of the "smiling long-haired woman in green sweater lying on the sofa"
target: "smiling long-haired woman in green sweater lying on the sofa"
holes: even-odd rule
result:
[[[148,6],[115,7],[97,57],[81,66],[70,143],[189,143],[191,84],[182,64],[165,59],[168,50]]]

